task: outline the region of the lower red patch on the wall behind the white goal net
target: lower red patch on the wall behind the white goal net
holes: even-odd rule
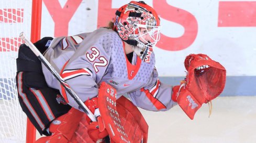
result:
[[[0,38],[0,51],[18,51],[18,47],[22,43],[21,38]]]

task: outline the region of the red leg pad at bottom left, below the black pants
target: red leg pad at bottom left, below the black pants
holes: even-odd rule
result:
[[[88,116],[74,108],[68,113],[55,119],[49,131],[53,133],[48,137],[41,137],[36,143],[42,142],[93,142],[88,136]]]

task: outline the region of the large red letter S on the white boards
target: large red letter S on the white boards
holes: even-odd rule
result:
[[[197,36],[198,24],[196,18],[188,11],[169,5],[166,0],[153,0],[153,8],[160,18],[179,23],[184,27],[181,37],[168,37],[161,34],[157,47],[164,50],[182,50],[189,47]]]

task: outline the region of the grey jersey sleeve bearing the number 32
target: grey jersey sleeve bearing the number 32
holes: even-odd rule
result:
[[[70,60],[64,64],[60,75],[85,102],[98,95],[98,83],[106,72],[109,59],[110,55],[102,45],[91,46],[85,51],[77,49]],[[59,90],[69,105],[79,109],[75,100],[62,86]]]

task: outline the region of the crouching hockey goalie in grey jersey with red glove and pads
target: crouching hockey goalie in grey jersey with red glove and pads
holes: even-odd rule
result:
[[[193,119],[203,103],[222,92],[226,70],[207,55],[189,55],[184,82],[174,87],[162,83],[153,52],[159,40],[157,12],[131,1],[116,11],[108,28],[44,37],[34,44],[97,121],[88,118],[52,71],[22,44],[18,97],[29,120],[46,135],[36,142],[147,142],[148,125],[137,107],[168,111],[179,105]]]

